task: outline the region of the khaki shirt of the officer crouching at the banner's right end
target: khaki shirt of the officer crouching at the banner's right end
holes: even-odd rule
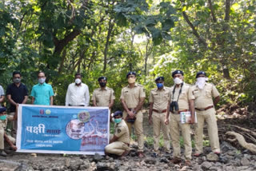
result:
[[[120,123],[114,125],[114,135],[118,137],[118,141],[130,144],[130,134],[126,121],[122,120]]]

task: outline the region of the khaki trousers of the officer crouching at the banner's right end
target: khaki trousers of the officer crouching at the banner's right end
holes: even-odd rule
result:
[[[110,134],[110,140],[114,137],[113,134]],[[106,145],[106,153],[114,153],[118,156],[121,156],[126,150],[130,150],[129,146],[122,141],[114,141],[109,145]]]

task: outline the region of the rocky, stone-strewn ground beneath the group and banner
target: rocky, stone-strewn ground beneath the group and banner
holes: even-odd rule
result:
[[[147,136],[152,133],[147,117],[144,120],[144,131]],[[145,143],[146,157],[137,157],[137,145],[131,145],[131,152],[127,157],[117,158],[86,155],[42,154],[37,156],[30,153],[14,153],[9,157],[0,157],[1,170],[256,170],[256,155],[248,150],[236,149],[221,138],[222,154],[210,153],[210,147],[204,148],[204,155],[193,157],[192,166],[184,163],[174,165],[170,163],[172,154],[162,151],[159,156],[154,156],[151,145]]]

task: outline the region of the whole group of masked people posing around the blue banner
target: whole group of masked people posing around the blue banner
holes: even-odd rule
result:
[[[68,86],[66,92],[66,106],[89,106],[90,93],[86,84],[82,83],[82,74],[75,74],[74,83]],[[214,153],[220,153],[218,141],[218,127],[215,118],[214,106],[219,101],[219,93],[213,84],[207,83],[206,73],[196,74],[197,82],[191,86],[186,84],[182,70],[175,70],[172,73],[174,85],[170,88],[164,86],[164,78],[155,79],[157,88],[150,91],[150,111],[149,124],[153,124],[154,153],[159,153],[160,130],[162,129],[164,148],[166,153],[170,153],[170,139],[173,146],[173,163],[181,162],[180,150],[180,130],[185,146],[186,165],[191,165],[192,146],[190,138],[190,125],[195,123],[195,153],[200,156],[202,150],[203,126],[206,121],[210,137],[211,149]],[[126,74],[128,85],[122,88],[120,100],[123,112],[117,111],[113,114],[115,122],[114,135],[110,137],[110,144],[106,145],[106,153],[125,156],[129,153],[131,128],[134,126],[138,137],[138,157],[144,157],[144,135],[143,135],[143,113],[142,105],[146,98],[146,92],[142,85],[136,82],[136,73]],[[28,90],[22,84],[22,74],[18,71],[13,73],[13,84],[8,85],[6,97],[10,102],[10,115],[13,120],[13,132],[17,131],[17,109],[18,104],[26,104]],[[107,106],[111,109],[114,105],[114,90],[107,87],[107,78],[98,78],[100,87],[94,89],[92,96],[93,106]],[[5,93],[0,85],[0,107],[4,101]],[[34,85],[30,96],[34,105],[53,105],[54,91],[50,84],[46,83],[46,75],[40,71],[38,73],[38,84]],[[214,99],[213,99],[214,98]],[[2,111],[6,109],[1,107]],[[180,113],[190,112],[190,120],[181,123]],[[196,115],[195,115],[196,113]],[[3,150],[2,130],[6,124],[6,117],[0,113],[0,155]],[[196,118],[195,118],[196,117]]]

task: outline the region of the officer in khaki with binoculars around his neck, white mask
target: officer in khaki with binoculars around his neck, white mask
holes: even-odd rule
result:
[[[173,159],[171,162],[174,164],[180,163],[181,150],[180,150],[180,129],[182,130],[182,137],[185,146],[186,165],[191,165],[192,145],[190,137],[190,124],[194,123],[194,96],[191,91],[190,85],[183,82],[182,70],[175,70],[172,73],[174,78],[174,86],[170,88],[170,137],[174,148]],[[181,123],[181,112],[190,111],[190,123]],[[166,124],[169,123],[169,112],[166,114]]]

